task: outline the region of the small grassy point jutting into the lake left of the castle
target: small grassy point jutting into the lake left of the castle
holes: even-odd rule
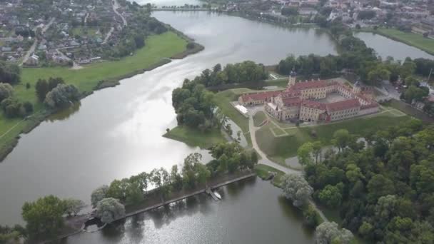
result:
[[[168,133],[164,134],[164,137],[171,138],[176,141],[182,141],[188,146],[198,146],[200,148],[211,148],[216,143],[225,142],[226,139],[222,135],[221,131],[214,128],[213,130],[203,133],[194,128],[188,128],[186,126],[176,126]]]

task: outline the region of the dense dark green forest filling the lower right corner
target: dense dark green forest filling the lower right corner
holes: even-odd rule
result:
[[[434,127],[412,120],[365,136],[340,131],[320,163],[305,167],[313,197],[370,243],[434,240]]]

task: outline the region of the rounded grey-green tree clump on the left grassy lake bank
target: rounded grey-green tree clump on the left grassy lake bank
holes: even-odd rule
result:
[[[50,108],[64,108],[71,106],[74,101],[78,101],[79,97],[79,89],[76,86],[59,84],[49,93],[46,93],[44,103]]]

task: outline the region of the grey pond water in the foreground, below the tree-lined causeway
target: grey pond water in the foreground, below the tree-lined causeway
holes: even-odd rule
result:
[[[64,244],[313,243],[300,211],[271,183],[253,178],[218,191],[221,201],[205,194],[188,198],[96,233],[74,235]]]

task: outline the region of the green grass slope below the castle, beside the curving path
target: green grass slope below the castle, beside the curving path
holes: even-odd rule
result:
[[[271,133],[270,128],[273,125],[270,124],[263,126],[263,128],[256,132],[256,140],[264,153],[270,156],[273,161],[284,165],[286,158],[297,156],[297,149],[303,143],[320,140],[323,141],[324,145],[330,145],[333,133],[338,129],[343,128],[347,129],[350,133],[363,135],[368,131],[379,131],[389,126],[396,126],[402,121],[409,119],[409,116],[397,116],[395,113],[386,111],[385,113],[321,126],[285,128],[284,130],[288,136],[278,137],[275,137]],[[276,126],[274,127],[281,130]],[[274,127],[272,129],[276,132]],[[311,136],[313,130],[316,132],[316,137]]]

